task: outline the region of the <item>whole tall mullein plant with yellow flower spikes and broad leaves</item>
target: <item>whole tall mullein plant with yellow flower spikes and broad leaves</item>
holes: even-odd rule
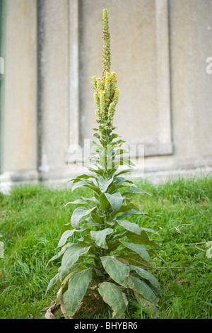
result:
[[[122,176],[133,171],[133,164],[124,159],[124,141],[113,132],[119,89],[116,73],[110,72],[107,9],[103,9],[102,30],[102,79],[92,78],[99,124],[93,130],[99,142],[90,141],[94,155],[81,162],[90,173],[71,179],[72,191],[84,186],[93,196],[66,203],[77,208],[71,221],[61,227],[57,253],[47,264],[62,256],[61,266],[47,287],[49,290],[57,284],[58,290],[56,300],[47,309],[46,317],[50,318],[55,314],[73,318],[81,305],[93,298],[99,305],[107,303],[117,318],[124,318],[131,297],[154,315],[158,312],[161,289],[149,272],[153,266],[151,255],[158,256],[158,243],[150,235],[158,234],[127,220],[131,215],[148,215],[131,203],[132,196],[148,193]],[[122,165],[128,169],[118,170]]]

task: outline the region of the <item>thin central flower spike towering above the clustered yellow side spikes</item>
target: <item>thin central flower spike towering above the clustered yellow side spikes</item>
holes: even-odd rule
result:
[[[110,33],[108,25],[107,9],[103,9],[102,32],[103,32],[103,60],[102,60],[102,79],[105,81],[106,73],[110,72]]]

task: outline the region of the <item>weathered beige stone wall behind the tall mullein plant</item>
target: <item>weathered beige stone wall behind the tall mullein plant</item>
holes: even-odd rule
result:
[[[211,171],[211,0],[7,0],[0,181],[78,172],[69,147],[95,127],[103,8],[121,89],[114,123],[144,145],[144,176]]]

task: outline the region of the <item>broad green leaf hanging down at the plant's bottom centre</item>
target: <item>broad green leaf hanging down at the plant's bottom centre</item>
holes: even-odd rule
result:
[[[128,303],[119,286],[111,282],[102,282],[99,284],[98,291],[105,303],[110,305],[117,318],[124,318]]]

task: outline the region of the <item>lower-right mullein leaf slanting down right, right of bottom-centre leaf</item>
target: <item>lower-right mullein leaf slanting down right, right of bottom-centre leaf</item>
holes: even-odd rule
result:
[[[136,291],[136,293],[142,295],[142,297],[146,298],[146,300],[150,300],[153,304],[158,303],[158,297],[155,295],[153,290],[151,290],[151,288],[139,278],[136,278],[135,276],[129,276],[128,288]]]

